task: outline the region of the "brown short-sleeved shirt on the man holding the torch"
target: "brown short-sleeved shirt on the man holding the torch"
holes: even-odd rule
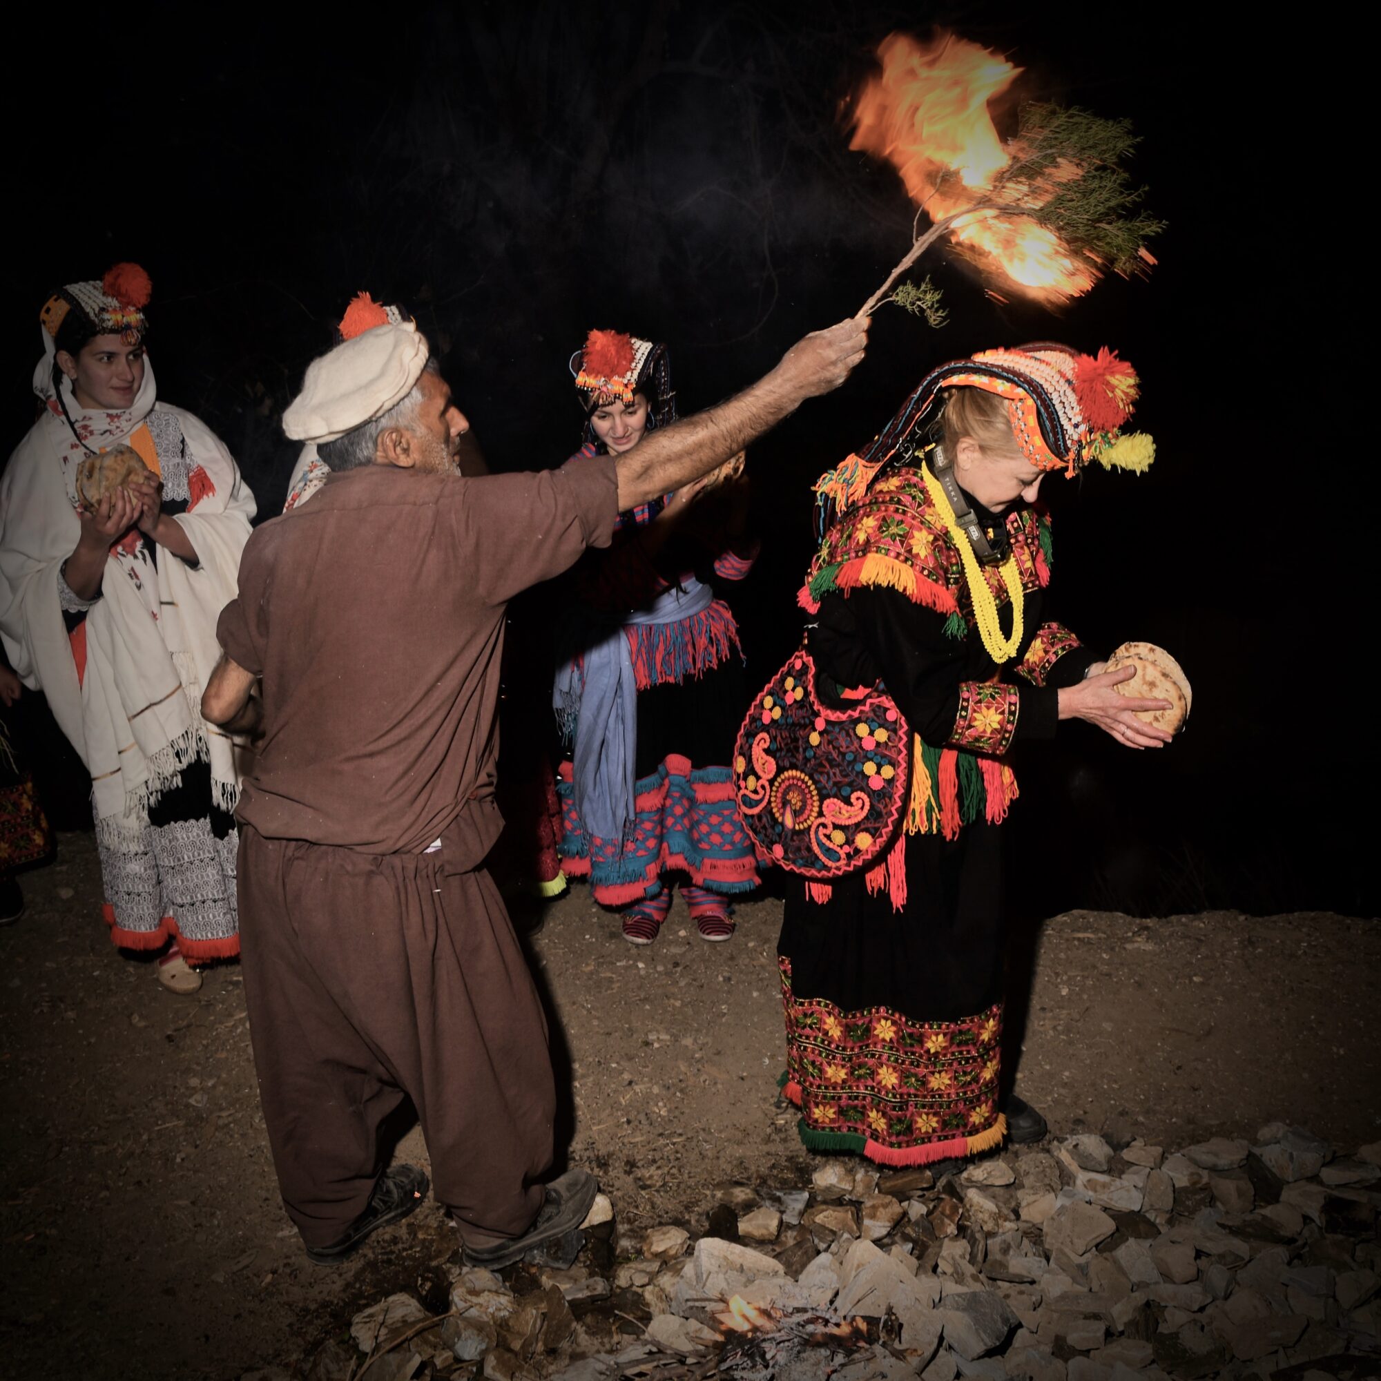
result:
[[[474,867],[493,802],[504,602],[609,544],[609,457],[518,475],[370,465],[264,523],[217,634],[264,678],[238,816],[267,838]]]

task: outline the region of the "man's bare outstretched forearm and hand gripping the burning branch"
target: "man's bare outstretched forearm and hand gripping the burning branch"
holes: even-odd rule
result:
[[[866,319],[812,331],[755,384],[717,407],[649,434],[616,461],[626,511],[707,475],[795,412],[807,398],[838,388],[867,345]]]

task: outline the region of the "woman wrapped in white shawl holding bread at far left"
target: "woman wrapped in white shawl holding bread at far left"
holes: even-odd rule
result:
[[[104,916],[162,950],[159,979],[239,953],[236,743],[200,714],[254,496],[196,417],[155,402],[148,275],[119,264],[43,308],[43,412],[0,478],[0,637],[91,773]],[[128,447],[151,474],[77,494],[83,460]],[[90,497],[90,496],[88,496]]]

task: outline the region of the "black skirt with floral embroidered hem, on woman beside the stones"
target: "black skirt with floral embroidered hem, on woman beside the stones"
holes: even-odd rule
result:
[[[801,1141],[885,1166],[978,1155],[1005,1134],[998,827],[910,836],[906,870],[900,911],[862,874],[824,905],[793,878],[778,946]]]

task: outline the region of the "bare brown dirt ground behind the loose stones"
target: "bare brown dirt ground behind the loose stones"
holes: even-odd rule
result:
[[[6,1374],[238,1378],[291,1366],[391,1291],[445,1308],[454,1242],[434,1204],[345,1266],[301,1254],[236,967],[174,997],[113,950],[90,836],[62,836],[22,881],[29,910],[0,934]],[[809,1179],[776,1095],[780,903],[739,917],[731,943],[706,945],[678,900],[634,950],[576,888],[532,936],[569,1159],[597,1170],[624,1228],[699,1232],[721,1181]],[[1375,921],[1072,911],[1018,949],[1018,1087],[1054,1130],[1121,1120],[1182,1146],[1283,1119],[1346,1149],[1377,1139]],[[399,1156],[427,1164],[416,1130]]]

